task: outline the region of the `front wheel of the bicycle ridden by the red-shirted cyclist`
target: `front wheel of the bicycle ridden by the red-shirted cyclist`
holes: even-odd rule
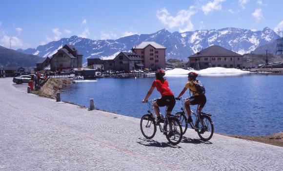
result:
[[[156,124],[154,118],[151,115],[145,114],[142,116],[140,127],[142,135],[145,138],[151,139],[154,137],[156,133]]]

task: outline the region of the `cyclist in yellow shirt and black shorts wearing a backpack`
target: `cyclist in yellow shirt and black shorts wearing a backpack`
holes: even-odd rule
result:
[[[188,120],[187,120],[188,123],[192,122],[190,105],[200,105],[199,111],[197,112],[202,112],[202,108],[206,103],[206,97],[204,95],[205,92],[200,92],[200,90],[198,90],[198,88],[196,87],[196,85],[202,85],[202,83],[199,80],[196,80],[197,77],[198,74],[195,72],[188,73],[188,82],[186,83],[185,87],[183,88],[179,96],[176,97],[177,100],[180,100],[180,97],[186,92],[188,88],[189,91],[192,92],[193,94],[187,101],[185,101],[185,109],[188,114]]]

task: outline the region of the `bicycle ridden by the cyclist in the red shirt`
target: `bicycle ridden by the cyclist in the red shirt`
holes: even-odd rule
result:
[[[151,139],[155,136],[156,133],[156,121],[157,121],[157,116],[156,113],[153,109],[153,103],[157,99],[154,100],[147,100],[147,105],[148,105],[148,113],[143,115],[141,118],[141,131],[142,135],[147,138]],[[167,106],[166,106],[167,109]],[[160,131],[163,132],[163,134],[166,135],[166,138],[169,143],[172,145],[177,145],[181,142],[182,140],[182,126],[180,124],[179,119],[176,118],[175,115],[172,114],[166,114],[164,117],[164,124],[163,127],[160,124],[159,128]]]

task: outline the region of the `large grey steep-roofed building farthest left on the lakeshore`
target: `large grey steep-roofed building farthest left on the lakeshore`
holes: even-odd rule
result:
[[[82,67],[82,54],[74,45],[66,44],[50,59],[52,71]]]

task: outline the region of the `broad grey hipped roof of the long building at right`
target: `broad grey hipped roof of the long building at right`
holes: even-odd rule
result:
[[[233,52],[231,50],[225,49],[218,45],[212,45],[209,46],[200,52],[197,52],[188,58],[194,58],[194,57],[235,57],[239,56],[242,57],[243,55],[240,55],[236,52]]]

